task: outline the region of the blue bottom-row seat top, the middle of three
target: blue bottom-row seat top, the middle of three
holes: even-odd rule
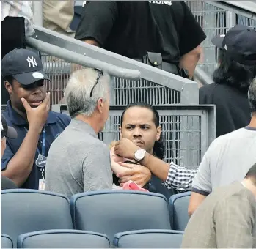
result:
[[[104,234],[78,230],[45,230],[21,234],[18,248],[109,248]]]

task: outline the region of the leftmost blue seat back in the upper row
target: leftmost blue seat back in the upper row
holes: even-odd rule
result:
[[[40,190],[1,191],[1,232],[12,237],[48,229],[73,229],[65,196]]]

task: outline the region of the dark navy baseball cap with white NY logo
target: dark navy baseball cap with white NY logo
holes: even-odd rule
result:
[[[42,79],[50,81],[37,53],[24,48],[15,48],[4,56],[1,60],[1,75],[12,75],[22,85],[30,85]]]

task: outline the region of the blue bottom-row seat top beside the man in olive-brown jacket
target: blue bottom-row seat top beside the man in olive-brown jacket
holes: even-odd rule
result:
[[[180,248],[183,231],[137,230],[114,235],[117,248]]]

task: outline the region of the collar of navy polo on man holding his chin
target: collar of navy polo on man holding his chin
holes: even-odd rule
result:
[[[13,108],[12,108],[12,105],[11,105],[11,102],[10,100],[8,100],[7,102],[7,107],[6,107],[6,110],[7,112],[7,115],[9,116],[9,119],[10,121],[15,124],[15,125],[27,125],[28,122],[26,121],[26,119],[23,119],[22,116],[20,116]],[[54,113],[52,111],[49,111],[49,114],[48,114],[48,118],[45,122],[46,125],[48,124],[54,124],[57,122],[57,119],[56,119],[56,115],[54,115]]]

